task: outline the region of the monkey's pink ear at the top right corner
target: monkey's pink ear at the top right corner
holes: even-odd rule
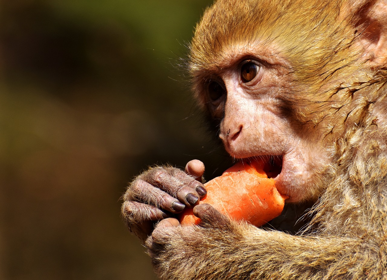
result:
[[[339,19],[347,20],[359,34],[357,41],[370,63],[387,63],[387,0],[349,0]]]

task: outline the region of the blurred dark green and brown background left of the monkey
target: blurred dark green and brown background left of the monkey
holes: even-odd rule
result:
[[[209,2],[0,2],[0,279],[155,279],[120,197],[154,163],[227,165],[176,67]]]

